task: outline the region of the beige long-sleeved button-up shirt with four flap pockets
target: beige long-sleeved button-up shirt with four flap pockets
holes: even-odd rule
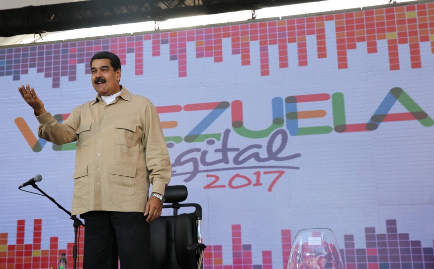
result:
[[[145,97],[122,89],[106,105],[100,95],[62,124],[36,117],[39,137],[55,144],[77,140],[72,214],[91,210],[144,212],[149,187],[164,194],[172,167],[157,110]]]

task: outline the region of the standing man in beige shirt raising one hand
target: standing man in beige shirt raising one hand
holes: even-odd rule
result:
[[[161,214],[171,163],[160,119],[145,97],[120,85],[119,58],[90,60],[95,100],[62,124],[29,85],[18,88],[34,109],[39,137],[55,144],[77,140],[72,214],[85,220],[84,269],[150,268],[150,223]],[[152,194],[148,199],[152,183]]]

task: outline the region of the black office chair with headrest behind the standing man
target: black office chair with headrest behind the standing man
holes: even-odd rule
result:
[[[151,269],[201,269],[202,207],[197,203],[180,203],[187,199],[185,186],[166,187],[163,208],[173,208],[172,215],[151,222]],[[181,207],[193,207],[194,212],[178,214]]]

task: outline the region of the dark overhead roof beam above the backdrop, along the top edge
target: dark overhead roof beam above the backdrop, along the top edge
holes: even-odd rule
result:
[[[87,0],[0,10],[0,37],[210,15],[321,0]]]

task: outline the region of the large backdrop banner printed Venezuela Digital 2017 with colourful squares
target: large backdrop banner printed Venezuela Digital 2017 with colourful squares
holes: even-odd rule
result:
[[[314,227],[335,232],[347,269],[434,268],[424,1],[0,49],[0,269],[49,268],[61,253],[72,262],[72,220],[17,187],[40,174],[70,209],[76,144],[38,138],[17,88],[34,87],[62,122],[95,97],[89,60],[101,50],[157,107],[170,184],[204,209],[206,269],[285,268],[291,238]]]

